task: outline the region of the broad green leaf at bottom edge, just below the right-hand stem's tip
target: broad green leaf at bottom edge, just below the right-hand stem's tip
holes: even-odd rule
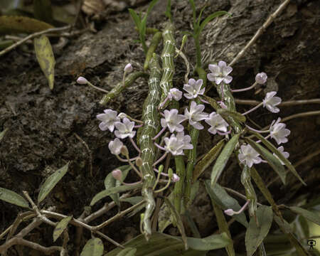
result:
[[[250,218],[249,227],[245,233],[245,248],[247,249],[247,256],[252,256],[257,247],[262,243],[267,234],[269,233],[273,213],[270,206],[260,206],[256,211],[257,226],[255,218]]]

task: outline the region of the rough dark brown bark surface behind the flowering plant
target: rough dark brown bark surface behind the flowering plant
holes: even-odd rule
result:
[[[175,37],[177,46],[180,46],[182,32],[191,30],[192,12],[188,1],[172,2]],[[208,6],[203,17],[218,10],[233,14],[229,18],[208,23],[201,36],[203,63],[217,60],[230,63],[282,1],[198,2],[198,11],[201,5]],[[144,2],[137,10],[146,11],[146,8]],[[165,10],[166,1],[159,1],[148,18],[148,26],[164,28]],[[111,90],[122,80],[122,70],[127,63],[132,63],[135,70],[142,70],[144,52],[141,45],[135,43],[137,39],[134,23],[127,10],[109,14],[97,23],[97,33],[87,31],[78,38],[68,38],[68,44],[63,49],[55,50],[55,87],[52,91],[38,67],[32,47],[27,47],[28,50],[26,47],[17,48],[1,57],[0,130],[9,128],[9,132],[0,142],[0,187],[17,193],[28,191],[31,197],[36,198],[43,180],[69,161],[68,174],[41,206],[54,205],[58,212],[66,215],[79,216],[82,213],[92,196],[103,189],[105,176],[119,166],[107,148],[113,135],[100,131],[95,116],[105,108],[112,108],[139,119],[148,88],[146,80],[140,78],[117,99],[102,107],[99,101],[103,94],[86,85],[78,85],[75,80],[82,75],[93,84]],[[319,98],[319,40],[319,1],[291,1],[257,43],[233,66],[233,88],[250,86],[255,74],[262,71],[268,75],[267,85],[261,86],[257,93],[241,92],[236,97],[261,101],[266,92],[277,90],[277,95],[283,101]],[[194,66],[196,52],[191,38],[188,38],[183,51]],[[183,60],[176,58],[176,87],[183,86],[184,73]],[[217,96],[215,90],[210,90],[209,96]],[[238,105],[238,111],[244,112],[250,107]],[[281,107],[279,114],[261,109],[249,117],[252,122],[265,127],[278,116],[284,118],[314,110],[319,110],[319,105]],[[284,147],[290,153],[289,159],[293,164],[319,150],[319,116],[291,119],[286,124],[291,134]],[[89,151],[75,134],[87,144]],[[216,139],[208,133],[201,133],[199,156],[215,142]],[[261,164],[257,170],[267,183],[276,176],[266,165]],[[291,174],[287,177],[286,186],[276,181],[270,186],[270,191],[277,203],[297,204],[319,196],[320,155],[299,165],[297,171],[308,186],[302,186]],[[201,178],[210,178],[210,168]],[[244,192],[235,161],[230,161],[219,183]],[[264,202],[260,193],[258,196],[260,202]],[[108,200],[106,198],[102,203]],[[98,203],[93,210],[101,207],[102,203]],[[0,201],[0,209],[1,232],[13,222],[21,209],[3,201]],[[201,187],[191,213],[203,236],[215,231],[212,212],[210,199]],[[114,213],[117,213],[117,209],[111,210],[104,218]],[[42,245],[51,245],[51,228],[41,227],[42,235],[38,232],[35,239]],[[235,230],[237,228],[235,226]],[[139,234],[139,216],[124,218],[102,231],[118,242],[128,240]],[[169,232],[174,233],[174,230]],[[90,237],[89,233],[85,235]],[[112,245],[107,247],[112,248]],[[15,250],[11,253],[16,255]]]

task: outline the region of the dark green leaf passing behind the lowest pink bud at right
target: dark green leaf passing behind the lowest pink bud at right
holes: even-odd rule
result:
[[[233,210],[240,210],[241,206],[239,205],[238,201],[235,200],[235,198],[228,195],[227,192],[225,192],[225,189],[220,186],[218,183],[215,184],[215,186],[211,186],[210,181],[205,181],[206,190],[211,198],[211,201],[214,201],[221,209],[227,210],[227,209],[233,209]],[[247,227],[247,218],[245,217],[245,213],[240,213],[237,215],[233,215],[235,220],[237,220],[239,223]]]

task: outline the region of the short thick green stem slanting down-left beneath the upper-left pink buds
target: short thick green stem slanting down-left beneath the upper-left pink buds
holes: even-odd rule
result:
[[[99,102],[100,105],[102,106],[106,105],[107,102],[110,102],[110,100],[117,97],[120,94],[120,92],[122,92],[124,89],[132,85],[134,81],[137,80],[137,78],[141,78],[141,77],[147,78],[148,74],[144,72],[134,72],[128,75],[126,80],[124,81],[124,84],[122,81],[119,82],[109,93],[107,93],[102,97],[102,99]]]

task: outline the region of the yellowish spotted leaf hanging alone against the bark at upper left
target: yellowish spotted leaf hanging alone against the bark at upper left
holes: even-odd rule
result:
[[[40,68],[49,82],[50,90],[53,90],[55,82],[55,56],[53,55],[49,39],[44,35],[34,38],[34,50],[36,51]]]

